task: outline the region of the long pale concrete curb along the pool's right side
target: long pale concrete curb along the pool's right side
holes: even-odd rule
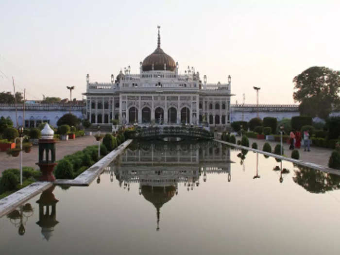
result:
[[[337,169],[328,168],[328,167],[325,167],[325,166],[322,166],[322,165],[309,163],[309,162],[305,162],[305,161],[302,161],[302,160],[277,155],[277,154],[274,154],[274,153],[267,153],[267,152],[264,152],[264,151],[245,147],[245,146],[238,145],[238,144],[235,144],[235,143],[225,142],[225,141],[222,141],[222,140],[219,140],[219,139],[214,139],[214,141],[224,143],[226,145],[233,146],[233,147],[238,148],[238,149],[244,149],[244,150],[247,150],[247,151],[252,151],[252,152],[255,152],[255,153],[261,153],[261,154],[264,154],[264,155],[267,155],[267,156],[271,156],[271,157],[278,158],[278,159],[281,159],[281,160],[289,161],[289,162],[292,162],[292,163],[300,165],[300,166],[304,166],[304,167],[308,167],[308,168],[314,168],[314,169],[317,169],[317,170],[321,170],[323,172],[328,172],[328,173],[340,175],[340,170],[337,170]]]

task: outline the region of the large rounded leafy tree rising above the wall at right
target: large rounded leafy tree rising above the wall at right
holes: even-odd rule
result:
[[[340,71],[311,67],[293,79],[293,99],[300,102],[301,115],[326,119],[340,104]]]

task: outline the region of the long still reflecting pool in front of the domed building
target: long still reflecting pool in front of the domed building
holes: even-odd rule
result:
[[[340,176],[216,142],[132,143],[0,218],[1,254],[339,254]]]

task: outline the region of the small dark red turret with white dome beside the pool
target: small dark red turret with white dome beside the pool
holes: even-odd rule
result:
[[[41,138],[39,139],[39,162],[36,163],[41,172],[41,181],[53,182],[55,177],[53,175],[55,163],[55,140],[53,139],[54,131],[49,124],[45,124],[41,131]]]

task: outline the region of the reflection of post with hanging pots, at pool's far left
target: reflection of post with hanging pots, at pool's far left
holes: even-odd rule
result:
[[[9,214],[7,214],[7,218],[11,221],[11,223],[18,228],[18,234],[20,236],[23,236],[26,232],[25,225],[28,221],[28,218],[30,218],[33,215],[33,208],[32,205],[22,204],[19,206],[18,209],[13,210]]]

